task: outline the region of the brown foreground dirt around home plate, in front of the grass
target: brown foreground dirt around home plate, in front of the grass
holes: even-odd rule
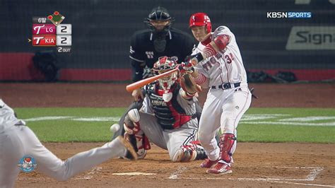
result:
[[[102,143],[46,143],[60,158]],[[112,159],[93,170],[57,182],[35,172],[20,174],[17,187],[305,187],[335,186],[335,144],[239,143],[231,175],[208,175],[200,161],[172,163],[153,147],[145,160]],[[89,162],[88,162],[89,163]],[[38,165],[38,164],[37,164]],[[153,175],[113,175],[144,172]]]

